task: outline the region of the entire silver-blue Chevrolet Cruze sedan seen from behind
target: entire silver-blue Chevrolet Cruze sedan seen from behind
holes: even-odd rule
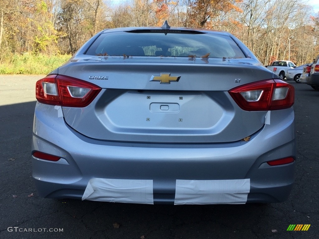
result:
[[[294,88],[226,32],[104,30],[36,83],[33,178],[46,198],[282,202]]]

